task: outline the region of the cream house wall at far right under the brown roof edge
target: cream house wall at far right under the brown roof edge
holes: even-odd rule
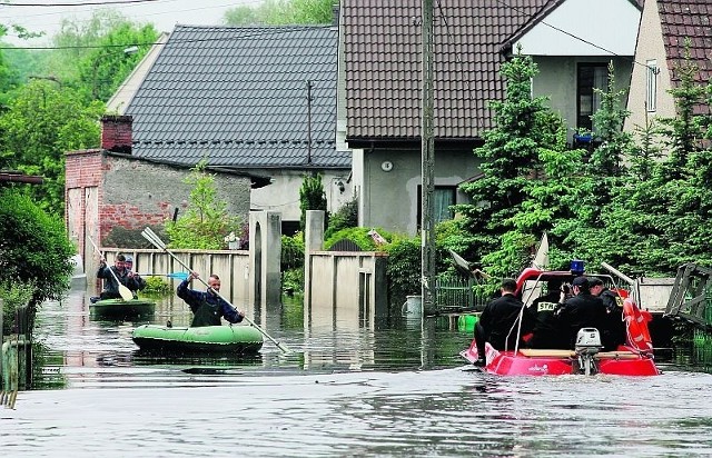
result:
[[[649,60],[656,60],[657,68],[660,69],[657,73],[656,109],[652,112],[647,112],[645,109],[647,91],[647,67],[645,67],[645,63]],[[660,24],[657,2],[655,0],[645,1],[640,37],[635,49],[635,62],[627,100],[627,109],[631,111],[631,116],[625,120],[623,128],[629,132],[634,131],[636,126],[645,126],[646,118],[672,118],[675,116],[675,102],[670,94],[670,90],[672,89],[670,68],[668,68],[665,46],[663,44],[663,30]]]

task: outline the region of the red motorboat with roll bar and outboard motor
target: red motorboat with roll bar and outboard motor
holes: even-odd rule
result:
[[[577,268],[574,268],[577,267]],[[525,305],[538,297],[542,286],[548,280],[571,281],[583,275],[583,265],[572,263],[571,271],[545,271],[535,268],[525,269],[517,278],[517,297]],[[652,316],[641,310],[627,291],[615,286],[611,276],[590,275],[601,278],[610,289],[615,289],[623,299],[623,317],[626,325],[626,342],[615,351],[601,351],[599,330],[584,328],[578,331],[576,348],[533,349],[513,348],[496,350],[485,344],[485,365],[483,370],[500,376],[558,376],[571,374],[607,374],[616,376],[656,376],[660,370],[653,360],[653,346],[647,330]],[[521,316],[520,316],[521,318]],[[518,332],[516,327],[513,331]],[[517,339],[518,340],[518,339]],[[479,358],[475,340],[461,352],[469,362]]]

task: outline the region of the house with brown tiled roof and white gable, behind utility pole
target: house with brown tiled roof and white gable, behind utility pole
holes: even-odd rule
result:
[[[337,145],[354,151],[362,226],[415,233],[421,221],[421,2],[343,0]],[[466,201],[457,186],[478,173],[473,149],[493,126],[501,64],[522,46],[568,127],[595,130],[594,88],[613,62],[626,89],[641,8],[631,0],[454,0],[434,10],[435,219]]]

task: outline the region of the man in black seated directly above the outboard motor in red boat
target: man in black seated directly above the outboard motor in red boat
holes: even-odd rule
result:
[[[600,331],[605,322],[606,312],[603,300],[591,293],[591,285],[586,277],[574,278],[571,290],[573,296],[566,299],[566,292],[561,289],[556,315],[567,338],[567,348],[574,349],[578,330],[596,328]]]

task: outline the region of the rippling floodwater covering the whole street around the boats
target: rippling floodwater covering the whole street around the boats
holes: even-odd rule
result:
[[[266,330],[289,354],[266,340],[250,359],[151,358],[138,322],[95,321],[85,302],[40,312],[48,389],[0,409],[2,456],[712,455],[712,376],[690,351],[659,377],[501,378],[463,365],[472,335],[446,319],[305,329],[285,305]],[[151,322],[189,318],[168,299]]]

